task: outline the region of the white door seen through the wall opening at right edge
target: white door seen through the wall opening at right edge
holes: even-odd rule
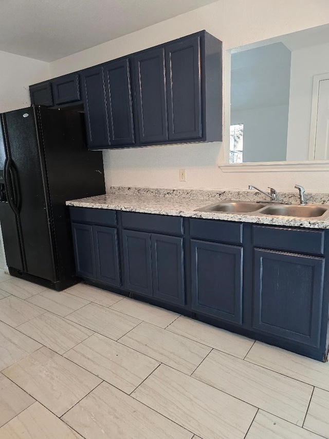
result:
[[[315,160],[329,160],[329,79],[319,81]]]

